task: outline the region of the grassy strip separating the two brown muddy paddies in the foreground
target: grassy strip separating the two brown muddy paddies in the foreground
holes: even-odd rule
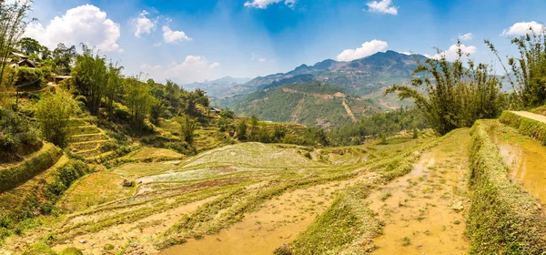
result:
[[[366,162],[365,168],[377,172],[380,178],[361,182],[341,193],[330,208],[292,243],[295,254],[338,254],[349,246],[359,247],[360,253],[372,251],[371,238],[381,233],[381,227],[373,212],[363,204],[363,199],[368,197],[370,189],[409,173],[413,163],[420,158],[420,151],[437,146],[454,133],[457,130],[442,138],[410,140],[406,145],[396,145],[403,150],[394,148],[394,154]]]

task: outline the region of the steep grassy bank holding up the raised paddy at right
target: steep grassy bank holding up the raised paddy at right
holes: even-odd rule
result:
[[[544,254],[546,219],[536,199],[508,179],[499,149],[487,134],[490,123],[477,121],[471,131],[470,253]]]

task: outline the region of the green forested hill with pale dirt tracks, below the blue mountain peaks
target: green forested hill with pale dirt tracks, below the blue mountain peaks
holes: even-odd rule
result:
[[[380,109],[344,89],[319,81],[272,85],[235,102],[224,100],[228,107],[243,116],[297,122],[310,127],[334,128],[356,122],[360,117]]]

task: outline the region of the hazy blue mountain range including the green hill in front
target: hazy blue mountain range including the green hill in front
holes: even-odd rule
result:
[[[379,52],[349,62],[332,59],[301,65],[288,73],[258,76],[245,84],[230,83],[207,90],[213,104],[244,116],[335,128],[373,112],[384,112],[409,101],[384,96],[386,87],[407,84],[426,56]],[[213,84],[208,85],[212,87]],[[210,89],[210,88],[209,88]]]

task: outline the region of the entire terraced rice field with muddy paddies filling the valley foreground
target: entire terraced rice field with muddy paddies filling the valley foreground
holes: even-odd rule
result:
[[[480,130],[487,130],[485,137]],[[492,154],[468,151],[485,146],[487,139],[498,146],[488,149],[499,148],[500,157],[476,165],[482,160],[476,157]],[[9,237],[0,250],[17,254],[35,243],[57,252],[76,247],[84,254],[465,254],[511,249],[500,240],[490,241],[495,230],[476,230],[505,220],[499,210],[480,208],[481,199],[493,197],[497,200],[489,205],[502,208],[511,197],[476,194],[490,192],[480,188],[483,183],[491,190],[509,183],[510,189],[499,190],[521,196],[518,203],[524,206],[518,209],[526,211],[511,208],[516,211],[511,215],[522,221],[510,218],[508,224],[515,225],[507,228],[520,228],[517,222],[529,219],[539,231],[533,238],[540,240],[543,223],[536,222],[546,220],[536,212],[543,205],[539,158],[544,156],[539,141],[498,120],[441,138],[430,131],[417,139],[403,133],[386,144],[370,141],[343,148],[238,143],[185,157],[166,148],[139,147],[111,159],[122,163],[77,180],[57,203],[63,210],[58,218]],[[495,176],[476,167],[493,162],[504,164],[507,173]],[[134,185],[124,187],[126,181]],[[479,226],[477,215],[484,217]],[[541,249],[538,240],[518,235],[504,240],[511,238],[527,241],[519,249]]]

